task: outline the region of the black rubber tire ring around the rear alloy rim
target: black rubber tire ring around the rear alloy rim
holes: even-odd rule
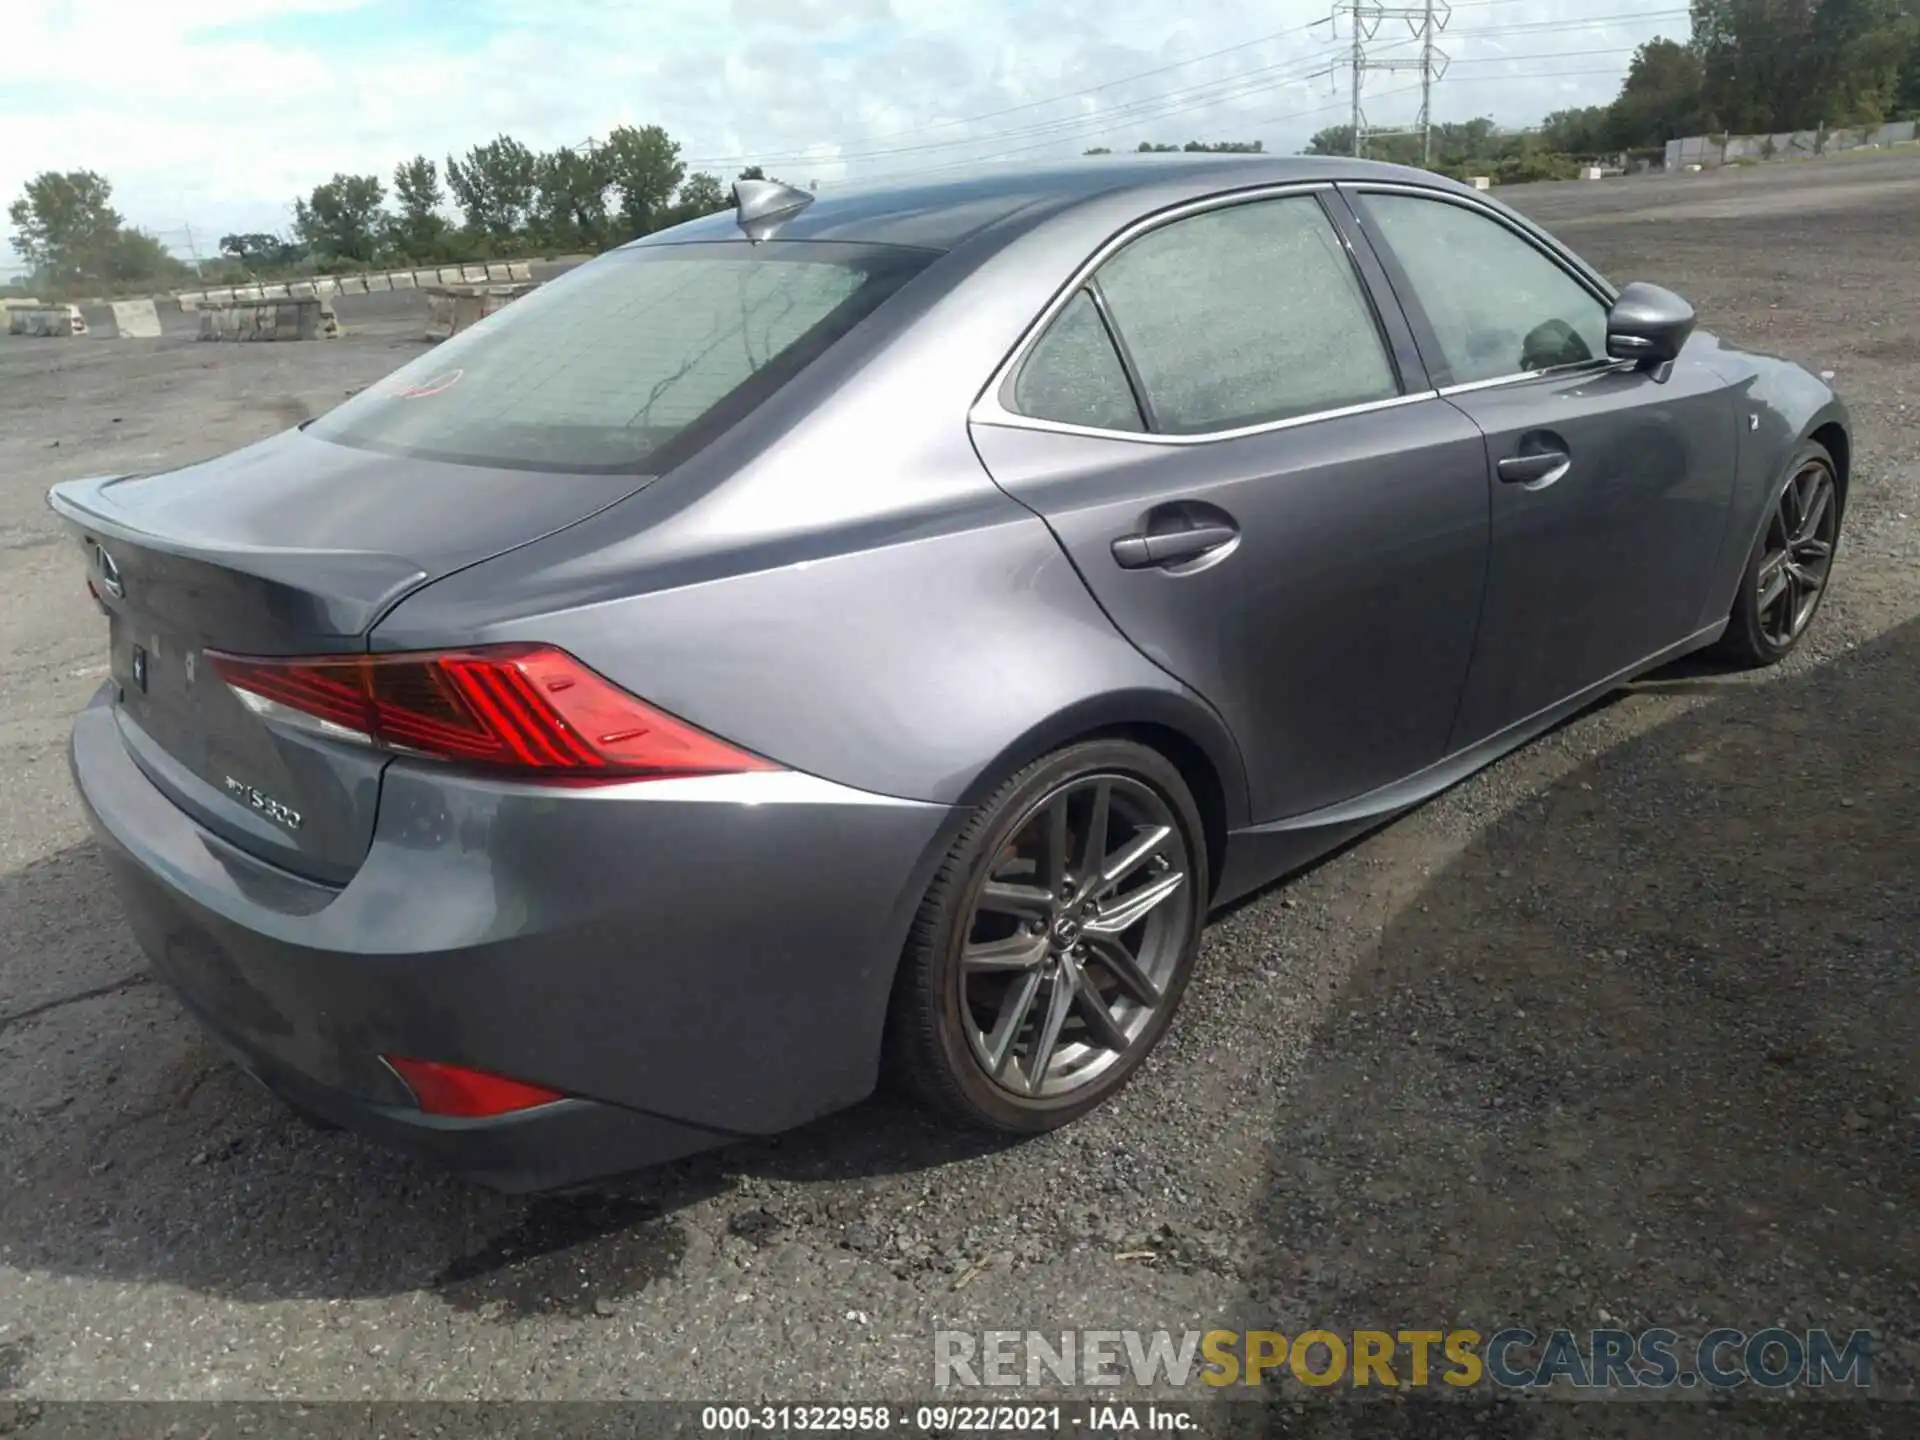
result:
[[[1181,828],[1181,839],[1187,845],[1187,874],[1196,887],[1196,899],[1190,906],[1181,958],[1173,970],[1173,977],[1167,981],[1165,996],[1148,1027],[1127,1048],[1127,1054],[1087,1085],[1085,1091],[1073,1091],[1058,1098],[1027,1100],[995,1085],[973,1058],[973,1048],[966,1039],[968,1021],[960,1010],[960,950],[973,914],[973,897],[985,883],[987,870],[995,856],[998,856],[1000,847],[1012,839],[1018,828],[1029,818],[1027,812],[1031,806],[1043,797],[1071,780],[1092,774],[1127,776],[1150,785],[1167,803]],[[933,991],[931,998],[939,1006],[939,1023],[933,1027],[933,1035],[941,1050],[939,1060],[952,1077],[954,1089],[968,1108],[979,1114],[983,1123],[1004,1131],[1037,1133],[1054,1129],[1094,1110],[1125,1087],[1127,1079],[1146,1060],[1171,1023],[1173,1012],[1179,1008],[1181,995],[1187,989],[1187,979],[1192,973],[1200,948],[1200,929],[1206,924],[1210,883],[1206,831],[1179,770],[1156,751],[1123,739],[1085,741],[1050,755],[995,797],[993,804],[991,820],[973,835],[968,852],[962,856],[952,902],[945,906],[945,916],[931,937],[927,979]]]

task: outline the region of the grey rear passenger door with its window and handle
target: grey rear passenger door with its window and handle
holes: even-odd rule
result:
[[[995,480],[1233,728],[1256,822],[1442,756],[1486,570],[1480,434],[1323,200],[1133,227],[973,413]]]

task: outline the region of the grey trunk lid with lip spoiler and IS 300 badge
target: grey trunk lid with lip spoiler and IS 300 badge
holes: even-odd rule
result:
[[[69,480],[48,499],[108,611],[132,758],[228,843],[346,883],[386,755],[263,720],[205,653],[365,651],[401,597],[643,484],[397,459],[294,430],[184,470]]]

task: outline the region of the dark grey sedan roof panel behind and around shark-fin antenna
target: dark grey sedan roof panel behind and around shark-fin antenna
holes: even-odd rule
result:
[[[776,238],[952,250],[1016,215],[1037,221],[1129,192],[1139,192],[1144,211],[1215,190],[1300,180],[1394,180],[1465,190],[1432,171],[1342,156],[1091,156],[1048,165],[941,167],[929,175],[833,184],[820,190],[806,209],[780,225]],[[745,240],[732,209],[659,230],[634,244],[705,240]]]

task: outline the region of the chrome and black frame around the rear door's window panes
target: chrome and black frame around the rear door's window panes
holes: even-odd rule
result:
[[[1284,184],[1263,184],[1246,190],[1227,190],[1223,194],[1202,196],[1200,200],[1187,200],[1179,205],[1154,211],[1152,215],[1144,215],[1133,221],[1131,225],[1125,225],[1121,230],[1112,234],[1098,250],[1094,250],[1092,255],[1081,261],[1079,267],[1075,267],[1073,275],[1060,288],[1060,294],[1056,294],[1039,313],[1039,317],[1027,326],[1025,334],[1021,334],[1020,342],[1006,355],[1006,359],[1000,361],[998,369],[993,372],[993,378],[987,380],[985,390],[981,390],[979,397],[973,401],[973,407],[968,411],[968,422],[993,424],[1010,430],[1044,430],[1048,434],[1092,436],[1096,440],[1125,440],[1139,445],[1213,445],[1223,440],[1244,440],[1248,436],[1263,436],[1275,430],[1294,430],[1302,424],[1319,424],[1321,420],[1340,420],[1352,415],[1371,415],[1375,411],[1390,411],[1390,409],[1400,409],[1402,405],[1417,405],[1427,399],[1436,399],[1440,394],[1438,390],[1432,388],[1407,390],[1409,376],[1402,369],[1400,353],[1394,348],[1392,334],[1386,326],[1386,315],[1382,313],[1384,301],[1392,300],[1394,296],[1375,294],[1375,286],[1369,282],[1365,267],[1357,263],[1356,255],[1348,253],[1346,261],[1348,265],[1354,267],[1354,284],[1359,286],[1359,294],[1367,301],[1367,311],[1373,317],[1373,334],[1375,340],[1380,344],[1380,353],[1384,355],[1388,367],[1394,372],[1394,384],[1396,388],[1400,388],[1398,396],[1390,396],[1386,399],[1369,399],[1359,405],[1342,405],[1338,409],[1311,411],[1308,415],[1290,415],[1284,420],[1263,420],[1260,424],[1242,424],[1233,430],[1208,430],[1204,434],[1192,434],[1192,436],[1165,434],[1162,430],[1152,428],[1154,424],[1152,407],[1146,401],[1146,396],[1140,394],[1139,376],[1133,371],[1133,359],[1125,349],[1125,342],[1119,338],[1117,326],[1108,317],[1106,303],[1100,298],[1098,286],[1094,282],[1100,267],[1106,265],[1108,259],[1112,259],[1116,253],[1125,250],[1140,236],[1165,228],[1167,225],[1177,225],[1179,221],[1190,219],[1194,215],[1204,215],[1213,209],[1250,205],[1261,200],[1290,200],[1294,196],[1311,196],[1321,205],[1321,217],[1327,221],[1329,227],[1332,227],[1334,236],[1340,240],[1340,248],[1348,250],[1348,238],[1344,228],[1340,227],[1340,219],[1336,213],[1332,213],[1332,209],[1327,204],[1327,196],[1336,194],[1336,188],[1338,186],[1334,180],[1290,180]],[[1094,298],[1094,305],[1100,311],[1100,321],[1102,324],[1108,326],[1108,338],[1114,342],[1114,349],[1119,355],[1121,369],[1127,372],[1127,384],[1135,386],[1135,399],[1140,407],[1142,420],[1148,424],[1146,430],[1106,430],[1096,424],[1041,420],[1033,415],[1021,415],[1020,411],[1010,409],[1002,401],[1002,396],[1008,392],[1008,386],[1012,386],[1014,376],[1020,372],[1020,367],[1027,361],[1027,355],[1039,344],[1041,336],[1046,334],[1046,328],[1054,323],[1054,317],[1060,315],[1060,311],[1066,309],[1069,303],[1073,303],[1073,296],[1077,296],[1081,290],[1087,290]],[[1425,386],[1427,384],[1425,376],[1421,376],[1419,382]]]

